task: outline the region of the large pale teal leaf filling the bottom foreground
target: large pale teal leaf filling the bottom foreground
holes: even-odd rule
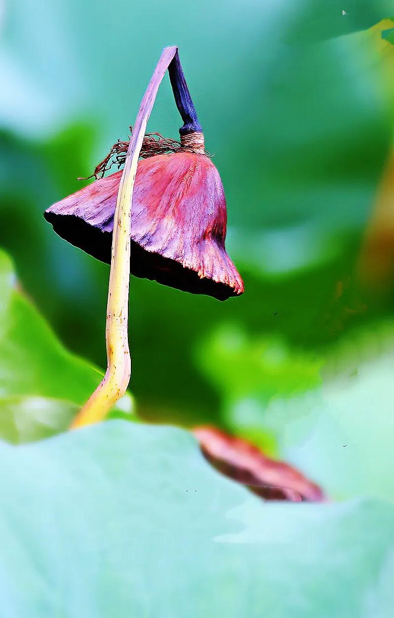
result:
[[[124,421],[2,445],[7,618],[390,618],[394,509],[264,504]]]

